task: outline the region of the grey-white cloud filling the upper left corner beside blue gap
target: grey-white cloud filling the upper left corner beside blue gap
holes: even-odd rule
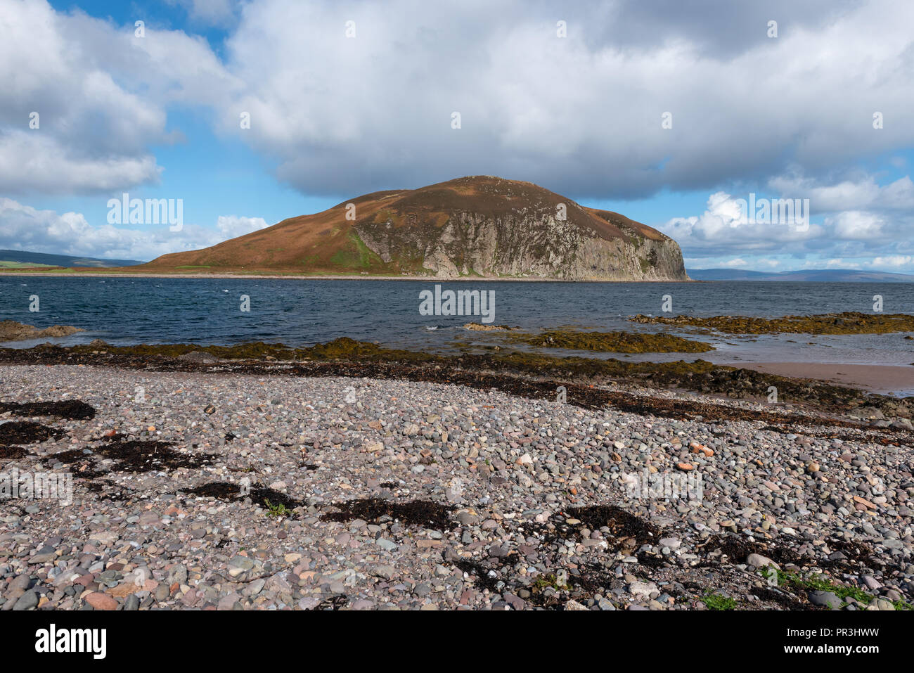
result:
[[[0,0],[0,193],[155,183],[172,103],[219,101],[231,77],[205,40]]]

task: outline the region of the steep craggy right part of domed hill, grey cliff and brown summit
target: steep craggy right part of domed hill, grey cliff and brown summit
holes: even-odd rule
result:
[[[388,219],[359,221],[359,238],[385,262],[419,257],[439,278],[688,277],[679,246],[659,231],[531,183],[464,177],[417,189],[390,208]]]

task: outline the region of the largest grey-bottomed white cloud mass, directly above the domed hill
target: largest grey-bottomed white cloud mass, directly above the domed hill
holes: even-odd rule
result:
[[[771,6],[671,4],[672,16],[691,16],[674,27],[650,5],[659,27],[648,32],[636,5],[563,7],[569,35],[558,38],[545,3],[493,13],[481,1],[262,0],[227,42],[226,67],[245,87],[222,126],[239,134],[239,111],[250,112],[239,137],[292,186],[325,193],[487,173],[577,198],[634,198],[764,181],[792,165],[818,175],[914,141],[900,121],[914,103],[912,5],[781,5],[773,39]],[[620,16],[637,28],[629,37],[624,22],[603,27]],[[346,20],[356,37],[345,37]],[[716,46],[733,30],[737,42]],[[874,111],[893,122],[875,130]]]

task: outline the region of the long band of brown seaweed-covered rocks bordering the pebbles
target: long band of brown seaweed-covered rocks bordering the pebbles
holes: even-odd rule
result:
[[[873,379],[868,366],[858,366],[870,379],[856,387],[836,384],[815,376],[847,375],[840,365],[823,365],[822,370],[804,370],[804,363],[780,363],[790,376],[767,372],[765,363],[740,363],[739,367],[678,359],[672,362],[627,362],[616,358],[560,358],[526,353],[505,354],[434,354],[415,350],[398,350],[377,344],[338,338],[312,347],[291,348],[282,344],[248,343],[233,346],[200,346],[198,344],[112,346],[104,342],[61,347],[52,344],[32,347],[0,348],[3,365],[101,365],[115,369],[159,371],[234,372],[249,374],[285,374],[292,377],[350,376],[368,379],[408,379],[414,381],[454,383],[478,388],[484,386],[508,392],[523,390],[530,397],[550,397],[559,384],[583,390],[588,404],[608,401],[594,390],[610,384],[623,388],[690,391],[718,398],[764,401],[778,389],[781,402],[798,403],[809,409],[852,415],[866,406],[881,410],[887,418],[914,416],[914,395],[885,395],[866,386],[876,387],[885,380]],[[743,366],[743,365],[751,365]],[[906,367],[878,373],[896,377],[887,389],[903,388],[908,380]],[[814,368],[813,368],[814,369]],[[856,368],[853,368],[856,369]],[[914,371],[912,369],[911,371]],[[853,372],[859,373],[859,372]],[[803,377],[807,374],[808,377]],[[898,377],[904,377],[898,384]],[[853,379],[849,379],[853,381]],[[875,381],[875,382],[874,382]],[[628,402],[626,402],[627,404]],[[772,408],[773,409],[773,408]],[[694,412],[688,410],[686,413]],[[872,414],[866,415],[867,418]]]

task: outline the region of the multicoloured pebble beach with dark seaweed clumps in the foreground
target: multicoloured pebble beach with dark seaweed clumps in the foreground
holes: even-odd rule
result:
[[[52,401],[82,411],[16,406]],[[914,602],[908,419],[797,409],[785,430],[396,379],[18,364],[0,402],[0,473],[72,476],[69,503],[0,499],[3,611]]]

